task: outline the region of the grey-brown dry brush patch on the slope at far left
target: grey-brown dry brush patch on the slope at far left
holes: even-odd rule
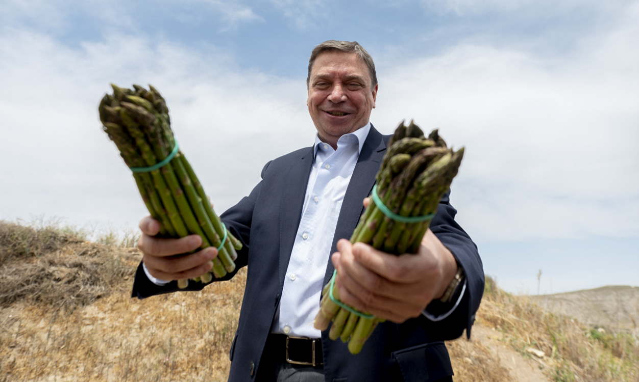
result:
[[[134,267],[131,250],[83,242],[73,231],[0,222],[0,307],[17,301],[71,308],[111,293]]]

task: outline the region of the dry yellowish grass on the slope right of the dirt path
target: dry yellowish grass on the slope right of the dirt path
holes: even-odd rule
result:
[[[544,351],[545,362],[553,366],[551,377],[555,381],[639,379],[639,349],[623,340],[627,337],[615,336],[604,345],[580,322],[544,311],[528,298],[506,293],[489,277],[477,317],[483,325],[504,332],[511,346],[521,353],[525,354],[528,347]]]

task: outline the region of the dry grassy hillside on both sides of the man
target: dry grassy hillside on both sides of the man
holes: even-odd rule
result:
[[[111,245],[0,221],[0,381],[225,381],[245,272],[132,299],[139,253],[100,241]],[[544,311],[490,279],[472,341],[449,349],[456,382],[639,381],[636,337]]]

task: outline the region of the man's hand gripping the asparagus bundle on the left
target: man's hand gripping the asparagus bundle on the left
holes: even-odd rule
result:
[[[211,260],[217,256],[215,247],[195,251],[202,244],[199,235],[189,235],[180,239],[155,237],[160,231],[160,222],[147,216],[140,221],[142,236],[137,247],[142,251],[142,261],[149,273],[161,280],[190,279],[211,270]]]

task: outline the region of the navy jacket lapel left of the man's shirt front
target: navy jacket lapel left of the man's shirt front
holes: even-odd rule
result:
[[[288,261],[291,258],[295,234],[302,218],[302,206],[304,205],[306,187],[311,174],[313,157],[314,147],[310,147],[299,158],[302,163],[293,163],[284,178],[286,184],[282,192],[279,214],[280,253],[278,269],[280,290],[282,290],[284,274],[286,274]]]

